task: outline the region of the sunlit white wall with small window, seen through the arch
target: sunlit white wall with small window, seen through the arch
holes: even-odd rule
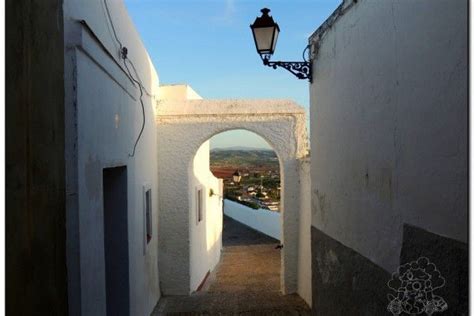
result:
[[[206,274],[219,263],[222,249],[222,180],[209,170],[210,142],[199,147],[190,170],[190,283],[196,291]],[[211,189],[213,195],[210,195]],[[197,192],[202,190],[202,221],[197,220]]]

